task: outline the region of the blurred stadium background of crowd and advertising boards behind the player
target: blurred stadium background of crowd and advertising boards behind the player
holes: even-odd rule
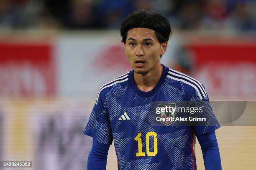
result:
[[[86,169],[82,132],[100,87],[131,70],[118,29],[138,8],[170,20],[163,64],[210,100],[256,100],[256,0],[0,0],[0,160]],[[255,169],[255,126],[216,134],[223,170]],[[198,143],[196,155],[204,169]],[[117,170],[113,145],[107,167]]]

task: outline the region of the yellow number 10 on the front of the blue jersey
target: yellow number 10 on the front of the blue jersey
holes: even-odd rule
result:
[[[154,136],[154,152],[149,152],[149,136]],[[157,154],[157,138],[155,132],[148,132],[146,134],[146,151],[148,156],[155,156]],[[145,153],[142,152],[142,140],[141,133],[134,138],[134,140],[138,141],[138,152],[136,153],[136,157],[145,156]]]

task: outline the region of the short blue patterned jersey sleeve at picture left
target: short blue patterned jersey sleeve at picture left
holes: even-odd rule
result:
[[[112,144],[113,135],[110,125],[105,96],[101,93],[97,104],[93,106],[91,115],[84,130],[84,134],[91,136],[97,142],[105,145]]]

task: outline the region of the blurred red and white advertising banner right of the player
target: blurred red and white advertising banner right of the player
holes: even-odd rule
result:
[[[195,75],[208,94],[256,96],[256,41],[197,42],[188,48],[195,55]]]

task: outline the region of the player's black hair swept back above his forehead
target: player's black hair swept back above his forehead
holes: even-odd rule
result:
[[[123,20],[120,28],[123,43],[126,41],[127,32],[133,28],[149,28],[154,30],[160,43],[168,41],[169,36],[172,35],[169,20],[154,11],[139,10],[128,15]]]

